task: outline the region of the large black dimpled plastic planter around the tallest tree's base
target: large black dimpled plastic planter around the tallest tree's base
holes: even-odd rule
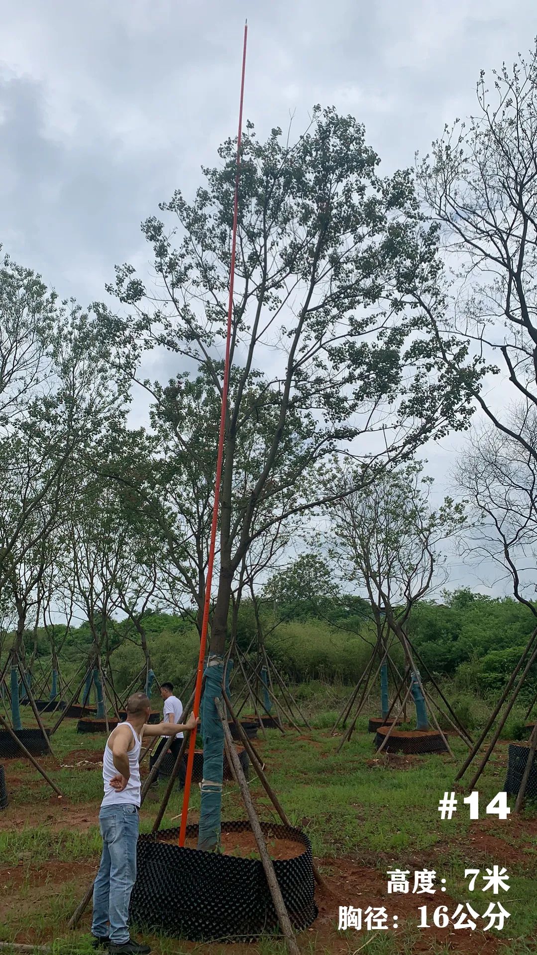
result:
[[[297,842],[297,856],[274,868],[292,925],[298,931],[317,918],[311,844],[299,829],[261,823],[265,838]],[[248,822],[222,822],[223,832],[251,832]],[[278,917],[259,859],[179,848],[179,830],[140,836],[131,920],[153,932],[191,942],[253,942],[279,930]],[[187,838],[197,826],[187,826]],[[158,841],[158,839],[170,841]]]

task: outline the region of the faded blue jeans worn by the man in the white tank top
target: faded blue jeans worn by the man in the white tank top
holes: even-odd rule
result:
[[[129,902],[136,881],[138,810],[132,804],[104,806],[101,864],[93,886],[92,933],[115,945],[129,940]],[[110,923],[110,930],[108,923]]]

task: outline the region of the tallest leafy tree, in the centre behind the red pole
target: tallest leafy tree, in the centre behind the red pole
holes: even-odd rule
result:
[[[436,301],[436,230],[420,214],[411,174],[378,173],[363,127],[316,107],[290,144],[274,129],[258,142],[248,123],[238,197],[237,296],[225,422],[217,596],[204,707],[206,775],[199,845],[219,837],[223,737],[213,705],[221,685],[233,582],[268,524],[317,506],[320,461],[354,442],[379,462],[410,454],[423,440],[465,419],[465,389],[440,369],[422,341],[417,295]],[[116,269],[125,320],[147,347],[176,354],[221,394],[218,345],[225,336],[236,145],[204,169],[205,185],[180,192],[143,229],[155,251],[158,288],[146,291],[134,268]],[[102,309],[105,311],[104,307]],[[440,316],[439,316],[440,319]],[[265,371],[258,369],[262,367]],[[194,372],[196,375],[196,372]],[[184,401],[177,391],[178,408]],[[215,439],[217,415],[215,415]],[[252,480],[235,493],[238,447],[256,435]],[[258,520],[267,502],[270,517]]]

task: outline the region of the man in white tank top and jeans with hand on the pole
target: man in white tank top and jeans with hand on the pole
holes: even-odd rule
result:
[[[127,720],[110,734],[103,755],[104,797],[99,812],[103,851],[93,886],[93,946],[125,955],[149,955],[151,951],[149,945],[131,939],[128,922],[136,880],[142,738],[175,736],[196,730],[198,722],[192,714],[185,724],[151,726],[147,722],[150,712],[145,693],[134,693],[127,703]]]

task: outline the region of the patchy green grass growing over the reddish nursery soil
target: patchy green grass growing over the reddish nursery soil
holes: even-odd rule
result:
[[[304,731],[300,738],[297,732],[281,736],[278,731],[268,731],[266,739],[259,736],[259,750],[266,762],[270,782],[279,795],[291,821],[304,829],[311,841],[314,855],[327,875],[338,872],[338,858],[355,860],[358,866],[367,866],[382,875],[391,867],[406,868],[411,872],[418,868],[434,868],[438,878],[445,879],[448,895],[455,902],[470,902],[478,911],[492,897],[469,893],[465,881],[465,868],[491,867],[498,864],[495,850],[476,850],[472,838],[482,831],[482,824],[470,823],[467,807],[462,802],[451,820],[442,821],[438,813],[438,801],[444,791],[454,789],[453,778],[466,753],[464,744],[451,738],[454,757],[429,755],[414,760],[401,760],[396,765],[386,763],[381,755],[375,758],[372,736],[366,732],[367,719],[359,720],[350,743],[338,753],[339,739],[330,736],[337,712],[321,711],[312,719],[312,732]],[[45,716],[45,721],[50,717]],[[54,753],[60,763],[72,763],[70,753],[76,750],[102,751],[101,736],[78,735],[75,721],[66,720],[53,736]],[[506,747],[500,748],[491,759],[485,775],[479,783],[481,806],[499,792],[505,779]],[[8,784],[10,779],[19,782],[13,789],[11,802],[17,818],[24,814],[24,824],[0,829],[0,904],[2,897],[10,902],[4,905],[0,920],[0,941],[29,939],[38,944],[58,939],[58,955],[76,950],[80,955],[90,951],[88,921],[83,931],[66,939],[66,923],[77,902],[83,895],[86,884],[93,878],[94,866],[100,853],[100,837],[97,827],[98,804],[101,793],[100,770],[57,768],[52,759],[44,760],[48,771],[62,789],[69,813],[76,807],[84,807],[84,815],[94,824],[82,827],[61,822],[61,813],[54,817],[54,825],[47,820],[57,812],[51,791],[31,765],[23,761],[7,764]],[[53,768],[55,767],[55,768]],[[250,790],[262,818],[276,820],[276,814],[268,797],[252,774]],[[159,794],[162,789],[159,790]],[[141,829],[148,831],[155,818],[159,794],[148,796],[141,813]],[[463,795],[458,796],[462,800]],[[511,801],[511,811],[513,808]],[[193,786],[191,810],[196,819],[199,808],[198,787]],[[178,825],[180,797],[174,794],[162,828]],[[235,786],[226,785],[223,792],[222,819],[244,817]],[[486,823],[488,837],[501,839],[506,849],[516,851],[518,858],[507,866],[510,891],[498,897],[510,912],[510,919],[502,933],[504,955],[519,955],[533,952],[537,922],[537,829],[531,825],[535,807],[529,807],[523,815],[527,826],[514,825],[512,817],[506,821],[490,819]],[[477,827],[477,829],[476,829]],[[334,860],[334,861],[330,861]],[[54,878],[54,866],[62,865],[65,878]],[[72,877],[68,869],[71,866]],[[63,871],[63,870],[62,870]],[[435,897],[438,899],[438,896]],[[495,901],[495,900],[494,900]],[[425,897],[424,902],[429,904]],[[418,904],[424,902],[417,902]],[[484,904],[485,902],[485,904]],[[358,902],[365,907],[369,902]],[[430,902],[431,909],[440,902]],[[341,904],[357,904],[354,900],[341,899]],[[337,927],[337,926],[336,926]],[[465,933],[467,934],[467,933]],[[483,937],[482,937],[483,938]],[[350,953],[363,951],[364,955],[391,955],[412,952],[415,946],[428,937],[410,918],[401,923],[397,932],[336,933],[332,939],[326,932],[303,933],[299,939],[303,952],[343,950],[347,945]],[[479,951],[476,936],[475,951]],[[154,950],[161,955],[181,955],[183,952],[210,950],[214,955],[223,952],[242,951],[241,946],[194,946],[176,940],[161,938],[153,940]],[[335,949],[338,944],[341,949]],[[362,947],[361,947],[362,946]],[[448,949],[430,940],[431,955],[447,955]],[[471,949],[467,949],[471,950]],[[281,943],[262,939],[255,946],[244,947],[251,955],[279,955],[284,951]]]

